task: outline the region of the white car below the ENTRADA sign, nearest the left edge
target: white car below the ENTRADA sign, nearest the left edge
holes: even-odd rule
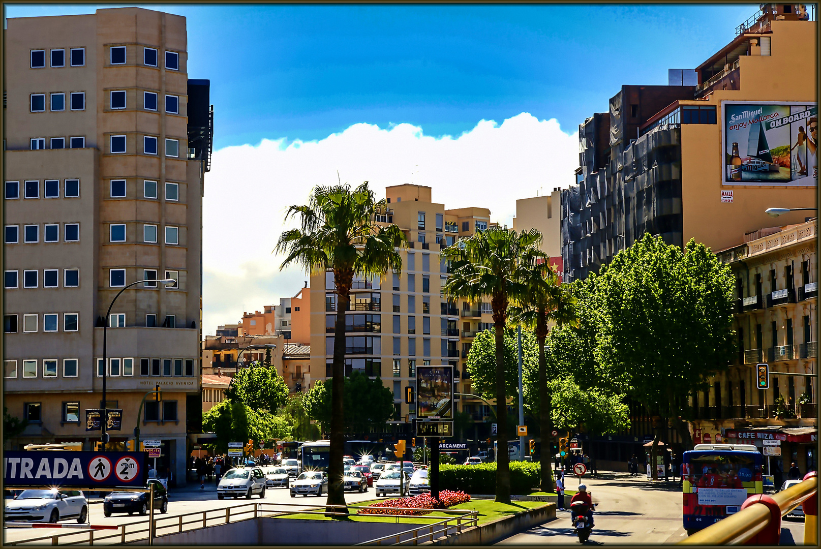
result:
[[[76,518],[85,523],[89,503],[80,490],[23,490],[6,501],[3,517],[7,522],[50,522]]]

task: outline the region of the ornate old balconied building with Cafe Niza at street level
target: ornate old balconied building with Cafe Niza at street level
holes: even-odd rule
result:
[[[784,470],[818,466],[818,220],[752,231],[718,257],[736,277],[737,353],[690,399],[696,432],[741,442],[782,440]],[[758,388],[766,363],[769,387]],[[781,397],[779,399],[779,397]],[[780,404],[780,400],[783,403]],[[739,433],[742,433],[739,435]],[[773,458],[774,459],[774,458]]]

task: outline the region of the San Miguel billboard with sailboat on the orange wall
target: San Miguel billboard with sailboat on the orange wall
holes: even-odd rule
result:
[[[724,185],[818,185],[818,104],[722,102]]]

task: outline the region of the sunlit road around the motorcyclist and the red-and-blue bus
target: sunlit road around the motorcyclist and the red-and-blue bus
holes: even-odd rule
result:
[[[660,545],[686,538],[681,522],[681,489],[676,483],[653,483],[643,477],[603,474],[585,478],[599,503],[595,511],[589,544]],[[566,488],[576,490],[576,478],[568,478]],[[570,502],[566,501],[569,506]],[[804,539],[802,519],[782,521],[781,545],[800,545]],[[569,545],[578,543],[569,511],[557,511],[557,518],[526,532],[518,533],[497,545]]]

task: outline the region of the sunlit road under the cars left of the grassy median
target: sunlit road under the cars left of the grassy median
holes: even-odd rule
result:
[[[358,493],[358,492],[346,492],[345,494],[345,501],[350,504],[355,504],[360,501],[372,500],[375,499],[376,495],[374,493],[374,488],[369,488],[368,492]],[[218,500],[217,499],[217,492],[216,488],[213,485],[213,482],[207,484],[205,490],[200,491],[195,488],[193,484],[189,487],[181,488],[179,490],[172,489],[168,495],[168,513],[167,515],[160,515],[157,512],[156,517],[171,517],[174,515],[183,515],[186,513],[201,513],[205,510],[218,510],[218,509],[225,509],[226,507],[239,507],[245,506],[249,503],[256,503],[259,501],[264,501],[267,503],[275,503],[275,504],[295,504],[296,507],[292,508],[292,510],[305,510],[315,506],[322,506],[325,503],[326,496],[320,497],[313,497],[313,496],[296,496],[291,498],[288,490],[286,488],[270,488],[265,491],[265,497],[260,498],[259,496],[253,496],[250,500],[245,499],[245,497],[241,497],[239,499],[225,499],[225,500]],[[277,507],[276,509],[272,508],[273,510],[283,511],[287,508],[284,506]],[[219,522],[213,522],[213,524],[221,524],[222,520],[224,520],[224,513],[213,512],[209,513],[209,526],[212,525],[213,520],[217,520]],[[245,517],[239,517],[240,519],[247,518],[248,515]],[[213,518],[213,520],[212,520]],[[186,520],[193,519],[186,518]],[[163,523],[170,524],[171,520],[163,521],[159,524],[162,526]],[[177,531],[177,522],[173,521],[175,526],[174,531]],[[121,524],[133,524],[133,528],[138,528],[138,525],[142,523],[142,528],[146,528],[148,524],[148,517],[140,516],[140,515],[112,515],[110,517],[103,516],[103,505],[96,503],[89,506],[89,524],[105,524],[105,525],[121,525]],[[76,520],[63,520],[61,524],[76,524]],[[188,529],[188,528],[186,528]],[[50,536],[57,533],[67,533],[71,530],[66,528],[3,528],[3,542],[16,542],[23,539],[30,539],[30,538],[42,538],[44,536]],[[170,529],[168,529],[168,533],[170,533]],[[102,535],[104,533],[113,533],[114,531],[99,531]],[[158,535],[163,534],[163,528],[158,528]],[[88,533],[80,533],[78,531],[77,536],[71,536],[68,538],[67,542],[76,542],[80,538],[88,539]],[[117,540],[110,540],[110,542],[118,542]],[[129,540],[130,541],[130,540]],[[110,544],[107,543],[109,540],[103,540],[101,544]],[[41,542],[42,543],[42,542]],[[98,543],[95,542],[95,545]]]

